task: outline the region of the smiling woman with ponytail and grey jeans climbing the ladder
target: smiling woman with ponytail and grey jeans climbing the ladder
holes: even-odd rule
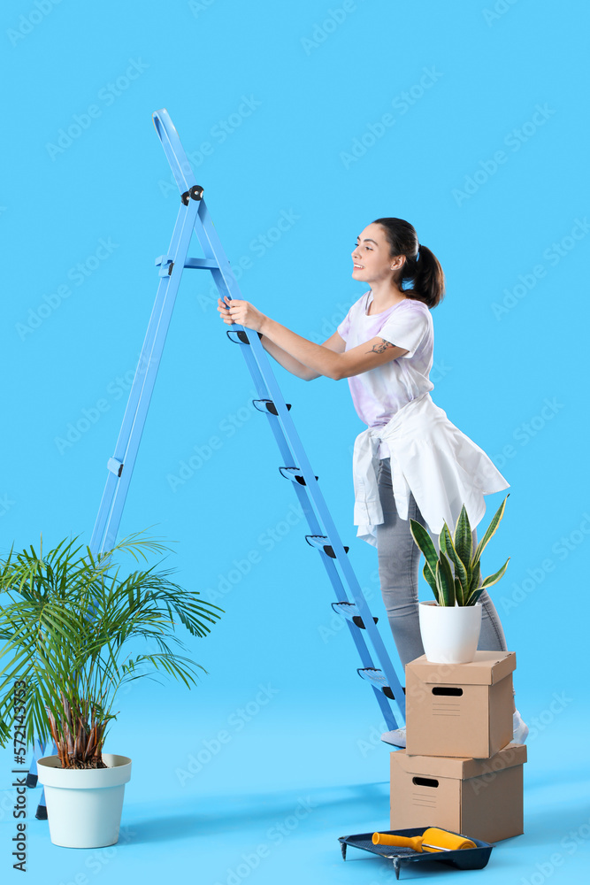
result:
[[[484,495],[508,488],[486,453],[433,403],[433,320],[444,295],[444,274],[431,250],[418,243],[408,221],[373,221],[356,238],[354,280],[369,289],[323,344],[296,335],[253,304],[218,299],[221,319],[261,333],[262,344],[289,372],[311,381],[320,375],[349,379],[367,429],[353,456],[354,524],[377,547],[379,581],[402,666],[424,654],[418,626],[420,552],[410,519],[438,545],[444,521],[453,527],[463,504],[471,527],[482,519]],[[475,532],[473,533],[475,536]],[[475,541],[477,543],[477,541]],[[479,648],[507,650],[498,613],[487,591]],[[528,732],[515,708],[515,740]],[[405,746],[405,731],[383,735]]]

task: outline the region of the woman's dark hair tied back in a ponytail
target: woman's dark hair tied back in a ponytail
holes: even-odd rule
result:
[[[399,288],[409,298],[422,301],[429,308],[436,307],[445,294],[445,275],[438,258],[426,246],[418,244],[418,234],[410,222],[403,219],[377,219],[372,223],[383,227],[391,257],[404,255],[406,258],[395,280]],[[407,282],[411,286],[404,288],[404,283]]]

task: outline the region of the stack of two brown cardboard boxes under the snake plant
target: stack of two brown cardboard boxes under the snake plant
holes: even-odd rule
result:
[[[524,744],[512,738],[516,655],[406,666],[406,750],[391,754],[391,828],[443,827],[486,842],[523,832]]]

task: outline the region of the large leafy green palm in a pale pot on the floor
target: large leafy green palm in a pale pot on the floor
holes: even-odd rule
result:
[[[143,533],[96,557],[77,540],[0,558],[0,743],[17,714],[27,746],[55,743],[38,762],[51,841],[99,848],[118,841],[131,776],[130,758],[103,753],[119,688],[154,673],[194,685],[206,671],[182,653],[177,628],[205,636],[222,610],[173,583],[171,569],[121,573],[120,556],[147,563],[168,550]]]

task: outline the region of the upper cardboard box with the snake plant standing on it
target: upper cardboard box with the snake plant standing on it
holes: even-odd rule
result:
[[[512,740],[514,651],[478,651],[471,664],[406,665],[406,750],[489,758]]]

